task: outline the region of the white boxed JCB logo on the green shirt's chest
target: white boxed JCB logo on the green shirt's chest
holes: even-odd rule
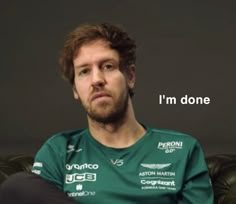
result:
[[[82,174],[66,174],[65,182],[67,184],[75,183],[75,182],[84,182],[84,181],[96,181],[96,174],[94,173],[82,173]]]

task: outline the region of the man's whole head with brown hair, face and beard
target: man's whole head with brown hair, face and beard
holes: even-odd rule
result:
[[[60,59],[62,73],[89,119],[124,119],[135,84],[135,51],[134,41],[113,25],[85,25],[69,35]]]

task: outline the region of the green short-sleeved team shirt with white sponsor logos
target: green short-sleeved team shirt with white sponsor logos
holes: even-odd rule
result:
[[[196,139],[146,128],[127,148],[111,148],[89,129],[61,132],[36,154],[32,172],[81,204],[213,204]]]

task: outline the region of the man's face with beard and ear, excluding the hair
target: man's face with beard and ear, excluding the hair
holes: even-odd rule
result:
[[[74,97],[92,120],[112,123],[126,113],[135,74],[134,67],[122,73],[119,62],[117,51],[102,40],[83,45],[74,58]]]

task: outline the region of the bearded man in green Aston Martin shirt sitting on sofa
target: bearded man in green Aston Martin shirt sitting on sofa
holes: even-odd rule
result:
[[[60,64],[88,128],[58,133],[39,150],[34,203],[213,204],[199,143],[135,118],[135,59],[135,42],[116,26],[84,25],[69,35]]]

